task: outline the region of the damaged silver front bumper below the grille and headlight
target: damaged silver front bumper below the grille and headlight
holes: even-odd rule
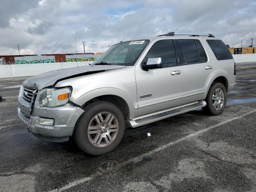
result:
[[[77,106],[36,107],[32,114],[28,114],[23,98],[18,99],[18,116],[27,125],[29,132],[36,137],[52,142],[65,142],[74,132],[74,126],[80,115],[84,112]],[[54,119],[53,126],[39,123],[39,118]]]

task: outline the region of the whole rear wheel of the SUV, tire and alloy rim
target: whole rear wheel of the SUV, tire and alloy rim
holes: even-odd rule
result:
[[[205,100],[207,105],[203,108],[203,110],[211,115],[222,114],[226,106],[226,100],[226,88],[219,82],[213,82]]]

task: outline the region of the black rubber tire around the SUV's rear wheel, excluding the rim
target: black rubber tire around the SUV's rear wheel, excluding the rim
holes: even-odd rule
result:
[[[224,93],[224,103],[219,110],[216,110],[213,106],[213,98],[212,97],[213,97],[215,90],[217,90],[218,88],[220,88]],[[224,85],[219,82],[213,82],[208,91],[205,101],[206,101],[207,105],[202,108],[204,112],[206,112],[209,115],[222,114],[222,112],[226,106],[226,101],[227,101],[227,92],[226,92],[226,88],[224,87]]]

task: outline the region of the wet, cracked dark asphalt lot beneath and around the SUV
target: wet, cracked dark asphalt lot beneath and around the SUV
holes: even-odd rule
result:
[[[196,110],[127,129],[103,156],[35,138],[17,115],[26,78],[0,79],[0,191],[256,191],[256,63],[237,66],[222,115]]]

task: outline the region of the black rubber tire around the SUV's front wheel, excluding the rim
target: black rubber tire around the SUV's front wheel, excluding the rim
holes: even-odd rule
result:
[[[110,112],[118,121],[118,132],[116,138],[105,147],[94,146],[88,136],[88,126],[91,120],[101,112]],[[84,113],[76,122],[73,135],[76,144],[81,150],[91,155],[102,155],[114,150],[118,146],[124,135],[124,128],[124,116],[121,110],[112,103],[98,101],[84,107]]]

